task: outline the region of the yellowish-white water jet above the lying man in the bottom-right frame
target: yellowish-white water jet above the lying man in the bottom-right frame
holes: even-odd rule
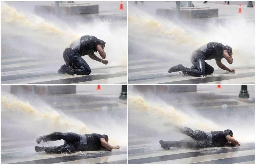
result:
[[[231,119],[228,120],[231,122],[224,122],[223,119],[228,117],[223,116],[220,118],[220,122],[218,122],[222,123],[222,125],[217,125],[199,115],[191,116],[182,111],[176,111],[172,106],[166,105],[165,103],[158,104],[155,103],[155,101],[145,100],[138,94],[129,94],[129,111],[133,111],[134,113],[148,113],[150,116],[159,117],[160,122],[168,123],[173,127],[186,126],[193,130],[199,129],[205,132],[231,129],[234,133],[234,138],[243,143],[254,142],[255,139],[254,125],[252,124],[254,122],[241,119],[239,114],[237,117],[231,117]],[[229,116],[229,114],[227,114],[227,116]],[[159,123],[159,121],[157,121],[157,123]],[[148,124],[150,123],[146,125],[148,126]],[[153,125],[154,124],[155,123],[153,123]],[[160,127],[157,129],[161,130]]]

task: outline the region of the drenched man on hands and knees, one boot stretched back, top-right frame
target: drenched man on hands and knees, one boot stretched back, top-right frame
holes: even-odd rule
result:
[[[191,62],[193,66],[191,68],[187,68],[179,64],[171,67],[168,72],[171,73],[182,71],[182,73],[185,75],[203,77],[207,74],[213,73],[214,68],[205,62],[205,60],[212,59],[215,59],[216,64],[220,67],[220,69],[235,72],[235,69],[229,69],[221,62],[221,59],[225,58],[229,64],[232,64],[232,55],[233,53],[231,47],[227,45],[224,46],[222,43],[218,42],[209,42],[192,53]]]

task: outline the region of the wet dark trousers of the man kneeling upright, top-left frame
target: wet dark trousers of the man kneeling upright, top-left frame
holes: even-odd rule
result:
[[[87,62],[80,56],[80,53],[72,48],[67,48],[63,52],[63,58],[77,75],[89,75],[92,71]]]

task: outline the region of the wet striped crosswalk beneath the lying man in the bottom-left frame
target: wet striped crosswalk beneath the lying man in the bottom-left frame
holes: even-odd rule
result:
[[[7,140],[7,141],[6,141]],[[45,154],[36,153],[34,146],[38,145],[34,140],[16,141],[17,139],[1,138],[1,163],[119,163],[127,164],[127,149],[113,149],[112,151],[84,151],[72,154]],[[21,145],[17,145],[21,144]],[[29,145],[28,145],[29,144]],[[3,148],[10,146],[15,148]],[[26,146],[26,147],[24,147]]]

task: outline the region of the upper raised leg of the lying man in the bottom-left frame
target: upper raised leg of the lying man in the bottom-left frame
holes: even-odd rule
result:
[[[73,142],[80,140],[80,135],[76,133],[61,133],[54,132],[49,135],[39,136],[36,138],[36,143],[39,144],[42,140],[43,142],[55,141],[55,140],[64,140],[66,142]]]

